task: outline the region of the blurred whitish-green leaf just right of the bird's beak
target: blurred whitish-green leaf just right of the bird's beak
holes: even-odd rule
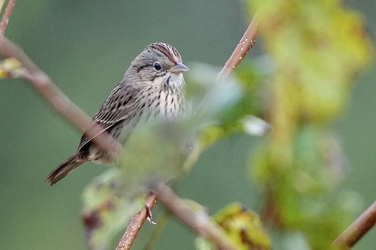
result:
[[[243,130],[247,115],[258,115],[261,72],[256,62],[244,63],[237,74],[216,81],[219,69],[194,64],[187,77],[188,95],[193,97],[194,110],[201,123],[220,126],[226,134]]]

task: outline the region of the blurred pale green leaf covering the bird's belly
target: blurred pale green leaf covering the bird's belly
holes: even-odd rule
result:
[[[183,174],[194,143],[191,128],[187,120],[154,120],[133,131],[116,163],[128,193],[147,192],[142,186],[149,178],[169,181]]]

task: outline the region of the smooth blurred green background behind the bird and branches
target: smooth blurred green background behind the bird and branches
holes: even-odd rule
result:
[[[364,15],[375,40],[376,3],[344,4]],[[175,46],[188,67],[196,61],[223,66],[247,28],[245,13],[240,1],[18,1],[6,36],[92,116],[149,43]],[[257,40],[246,60],[261,54],[262,41]],[[376,197],[375,75],[373,67],[358,81],[345,112],[332,125],[350,163],[343,188],[362,195],[359,213]],[[0,97],[0,249],[84,249],[82,191],[108,167],[86,163],[49,187],[45,177],[74,153],[80,132],[26,81],[1,81]],[[247,157],[261,141],[238,133],[213,145],[182,180],[179,196],[199,202],[211,214],[235,201],[257,210],[261,202],[249,182]],[[135,249],[152,228],[144,226]],[[156,249],[193,249],[194,237],[172,219]],[[354,249],[374,249],[375,242],[373,229]],[[286,243],[276,249],[294,247]]]

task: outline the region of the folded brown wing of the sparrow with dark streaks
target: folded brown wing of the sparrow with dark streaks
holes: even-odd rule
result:
[[[86,132],[83,133],[77,151],[80,151],[83,146],[100,133],[126,119],[133,109],[135,94],[135,90],[123,89],[120,84],[117,85],[92,119]]]

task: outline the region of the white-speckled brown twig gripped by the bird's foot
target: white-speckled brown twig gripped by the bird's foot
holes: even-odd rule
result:
[[[149,204],[150,210],[154,208],[157,203],[157,196],[155,194],[150,194],[146,197],[146,203]],[[130,220],[127,230],[125,231],[123,237],[121,237],[120,243],[118,244],[116,250],[129,250],[133,245],[141,227],[144,225],[147,219],[146,207],[143,207],[141,212],[135,214]]]

